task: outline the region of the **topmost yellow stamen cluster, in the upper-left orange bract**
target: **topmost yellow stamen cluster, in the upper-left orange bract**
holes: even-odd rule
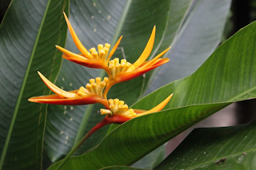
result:
[[[110,50],[109,43],[106,43],[105,46],[103,46],[102,44],[99,44],[98,52],[95,48],[91,48],[90,52],[87,53],[86,57],[89,59],[102,59],[103,61],[106,61],[109,50]]]

